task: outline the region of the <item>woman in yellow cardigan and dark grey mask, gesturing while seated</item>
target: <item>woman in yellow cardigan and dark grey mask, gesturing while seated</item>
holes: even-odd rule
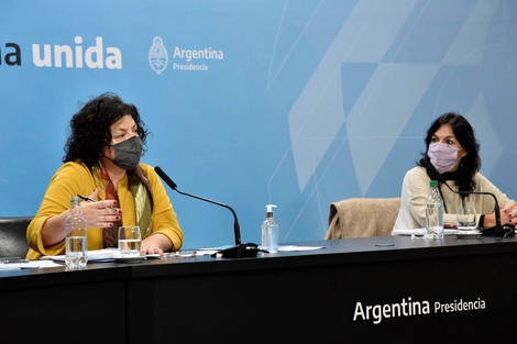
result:
[[[28,228],[28,258],[65,252],[65,218],[73,196],[88,221],[88,249],[117,247],[118,228],[138,224],[142,254],[179,249],[183,232],[160,177],[140,163],[147,131],[138,109],[114,93],[91,99],[74,114],[64,165],[52,178]]]

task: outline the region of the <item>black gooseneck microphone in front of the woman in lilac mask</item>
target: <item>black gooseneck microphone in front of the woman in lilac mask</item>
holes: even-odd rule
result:
[[[499,202],[497,201],[497,198],[495,197],[494,193],[492,192],[486,192],[486,191],[457,191],[451,188],[451,186],[447,182],[447,179],[436,169],[432,164],[426,159],[421,158],[420,164],[426,167],[427,171],[429,173],[429,176],[438,180],[441,184],[444,184],[449,190],[451,190],[454,193],[458,195],[487,195],[492,196],[494,199],[494,213],[495,213],[495,225],[488,229],[480,229],[481,234],[483,235],[490,235],[490,236],[503,236],[503,237],[509,237],[515,235],[515,226],[510,223],[507,223],[505,225],[501,224],[501,211],[499,211]]]

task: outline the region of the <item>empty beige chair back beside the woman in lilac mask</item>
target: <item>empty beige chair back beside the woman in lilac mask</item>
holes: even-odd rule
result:
[[[350,198],[330,204],[326,240],[391,235],[400,198]]]

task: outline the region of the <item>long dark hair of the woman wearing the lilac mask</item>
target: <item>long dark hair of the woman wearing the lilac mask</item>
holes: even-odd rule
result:
[[[468,154],[461,158],[460,168],[455,176],[460,191],[472,191],[475,188],[474,176],[481,168],[480,144],[475,137],[474,129],[464,116],[455,112],[447,112],[431,124],[425,138],[426,153],[422,154],[424,158],[429,162],[427,151],[429,149],[432,135],[435,135],[438,129],[443,124],[450,124],[452,126],[454,136],[468,152]]]

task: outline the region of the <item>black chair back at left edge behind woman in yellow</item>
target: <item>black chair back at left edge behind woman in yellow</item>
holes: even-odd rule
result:
[[[31,221],[32,217],[0,218],[0,257],[25,257],[26,228]]]

